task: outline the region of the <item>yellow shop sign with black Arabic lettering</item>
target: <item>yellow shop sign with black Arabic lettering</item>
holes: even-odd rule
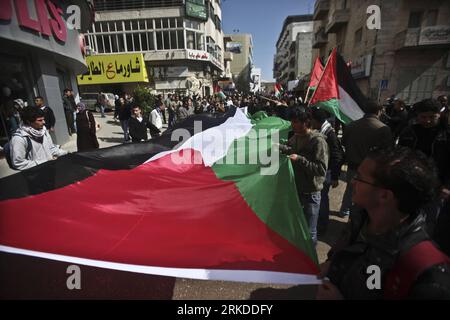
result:
[[[89,56],[86,62],[88,71],[77,77],[80,85],[148,82],[142,53]]]

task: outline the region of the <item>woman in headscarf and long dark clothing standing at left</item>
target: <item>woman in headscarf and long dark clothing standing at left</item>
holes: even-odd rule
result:
[[[80,102],[77,105],[77,148],[78,152],[98,149],[97,126],[94,116],[86,109],[86,105]]]

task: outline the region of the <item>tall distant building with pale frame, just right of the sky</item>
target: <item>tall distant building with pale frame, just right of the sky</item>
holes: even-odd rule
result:
[[[313,16],[288,16],[276,44],[273,77],[287,86],[311,72]]]

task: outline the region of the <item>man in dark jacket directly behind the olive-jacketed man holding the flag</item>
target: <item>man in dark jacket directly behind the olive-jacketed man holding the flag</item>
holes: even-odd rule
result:
[[[344,160],[344,151],[342,149],[339,138],[332,125],[327,121],[330,117],[329,113],[323,109],[312,108],[312,121],[311,124],[314,129],[326,136],[328,144],[328,170],[325,182],[323,184],[320,212],[319,212],[319,233],[325,232],[328,226],[328,219],[330,215],[330,199],[328,193],[330,187],[337,188],[339,185],[339,176],[341,174],[342,162]]]

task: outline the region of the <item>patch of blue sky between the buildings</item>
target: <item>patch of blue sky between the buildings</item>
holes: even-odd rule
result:
[[[262,79],[273,81],[273,57],[284,19],[312,14],[315,0],[222,0],[224,34],[250,33],[253,60],[262,69]]]

